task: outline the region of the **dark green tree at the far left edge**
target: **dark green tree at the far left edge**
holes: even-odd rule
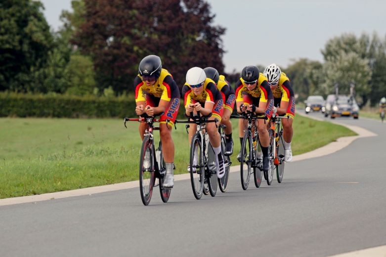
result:
[[[0,90],[37,91],[31,76],[46,65],[53,38],[43,5],[32,0],[0,2]]]

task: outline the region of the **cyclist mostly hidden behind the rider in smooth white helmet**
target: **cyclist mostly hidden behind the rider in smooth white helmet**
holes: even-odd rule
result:
[[[232,123],[230,122],[229,118],[233,112],[233,107],[235,106],[235,90],[233,87],[229,86],[228,82],[225,80],[225,76],[219,75],[216,69],[207,67],[204,69],[204,71],[207,75],[207,78],[210,78],[214,81],[222,95],[224,111],[221,117],[221,124],[226,126],[224,129],[226,141],[224,155],[229,156],[233,154]]]

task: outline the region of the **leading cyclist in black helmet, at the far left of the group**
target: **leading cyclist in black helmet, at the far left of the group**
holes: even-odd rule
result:
[[[141,60],[138,76],[134,79],[135,88],[135,113],[148,116],[161,115],[160,137],[166,167],[164,187],[172,188],[174,185],[174,143],[172,139],[172,125],[179,109],[179,89],[172,75],[162,68],[161,58],[148,55]],[[169,126],[166,119],[170,120]],[[139,134],[143,140],[146,123],[139,124]],[[150,169],[150,156],[145,155],[143,168]]]

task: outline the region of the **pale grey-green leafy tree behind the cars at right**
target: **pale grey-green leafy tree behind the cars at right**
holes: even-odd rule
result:
[[[386,83],[385,43],[376,33],[372,38],[367,34],[359,38],[354,34],[343,34],[329,40],[322,50],[326,61],[326,89],[332,92],[333,84],[339,83],[340,92],[345,93],[349,90],[348,85],[354,82],[362,104],[369,98],[374,104],[379,98],[377,92],[382,92]]]

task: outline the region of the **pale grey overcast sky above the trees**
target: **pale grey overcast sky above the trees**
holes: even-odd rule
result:
[[[61,10],[71,0],[41,0],[54,30]],[[226,28],[222,37],[225,71],[251,64],[287,67],[293,59],[323,61],[327,40],[343,33],[362,32],[385,39],[385,0],[208,0],[214,24]]]

